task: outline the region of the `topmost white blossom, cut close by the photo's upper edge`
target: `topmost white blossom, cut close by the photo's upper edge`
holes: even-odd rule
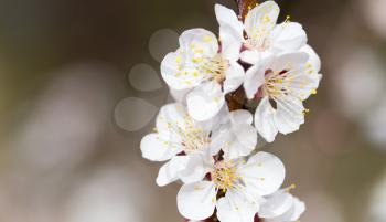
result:
[[[275,1],[256,6],[247,13],[244,23],[233,10],[221,4],[215,6],[215,11],[219,28],[233,30],[237,36],[235,40],[242,40],[240,59],[246,63],[256,64],[278,53],[297,52],[307,43],[301,24],[290,22],[289,18],[277,24],[280,9]]]

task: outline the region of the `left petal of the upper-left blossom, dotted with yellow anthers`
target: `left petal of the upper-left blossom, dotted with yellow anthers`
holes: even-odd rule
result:
[[[161,75],[167,84],[174,89],[186,89],[199,85],[203,81],[202,75],[195,75],[199,71],[186,63],[181,51],[171,52],[161,62]]]

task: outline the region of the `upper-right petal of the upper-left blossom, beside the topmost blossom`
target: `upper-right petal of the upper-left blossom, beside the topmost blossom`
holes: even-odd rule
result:
[[[243,30],[237,32],[230,25],[219,27],[219,40],[222,43],[222,56],[230,62],[237,62],[240,55],[243,44]]]

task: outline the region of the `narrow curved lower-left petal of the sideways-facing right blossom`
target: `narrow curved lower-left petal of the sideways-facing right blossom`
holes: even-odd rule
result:
[[[272,142],[278,134],[278,128],[274,121],[275,115],[276,110],[269,104],[269,98],[264,97],[256,108],[255,127],[268,142]]]

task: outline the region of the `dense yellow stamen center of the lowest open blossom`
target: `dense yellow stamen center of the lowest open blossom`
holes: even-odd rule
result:
[[[236,188],[240,179],[234,162],[225,160],[215,165],[214,170],[211,172],[211,178],[216,188],[224,192],[228,189]]]

